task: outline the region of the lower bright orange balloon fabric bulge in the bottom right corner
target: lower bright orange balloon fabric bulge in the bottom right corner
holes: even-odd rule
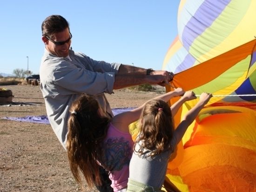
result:
[[[222,144],[191,146],[184,151],[179,171],[190,192],[255,189],[255,151]]]

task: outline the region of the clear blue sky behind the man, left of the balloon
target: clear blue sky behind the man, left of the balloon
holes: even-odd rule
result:
[[[41,23],[67,19],[72,48],[94,60],[162,68],[177,35],[179,0],[4,0],[0,6],[0,73],[39,73],[44,52]]]

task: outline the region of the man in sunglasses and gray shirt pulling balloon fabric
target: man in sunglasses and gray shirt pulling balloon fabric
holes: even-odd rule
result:
[[[70,49],[72,34],[69,24],[60,15],[47,17],[41,27],[45,53],[40,66],[40,89],[50,124],[65,149],[68,109],[81,93],[93,95],[113,116],[104,93],[111,94],[113,89],[144,83],[161,85],[174,76],[167,71],[96,61],[74,52]],[[107,188],[98,186],[102,192],[109,191]]]

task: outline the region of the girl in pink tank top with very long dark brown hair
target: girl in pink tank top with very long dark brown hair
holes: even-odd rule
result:
[[[182,94],[182,88],[177,88],[155,99],[167,102]],[[186,100],[194,98],[192,92],[186,92],[172,106],[173,113]],[[102,166],[109,172],[114,192],[126,191],[134,145],[128,126],[139,119],[144,105],[111,118],[92,96],[83,94],[73,102],[68,120],[67,156],[78,183],[81,184],[83,175],[89,186],[100,185],[103,181],[99,168]]]

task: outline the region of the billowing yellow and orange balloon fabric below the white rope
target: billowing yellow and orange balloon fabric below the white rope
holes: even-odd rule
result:
[[[256,189],[256,111],[239,106],[204,108],[178,168],[168,164],[167,175],[180,177],[176,186],[189,192],[254,191]],[[187,134],[187,132],[186,132]],[[196,179],[195,179],[196,178]]]

